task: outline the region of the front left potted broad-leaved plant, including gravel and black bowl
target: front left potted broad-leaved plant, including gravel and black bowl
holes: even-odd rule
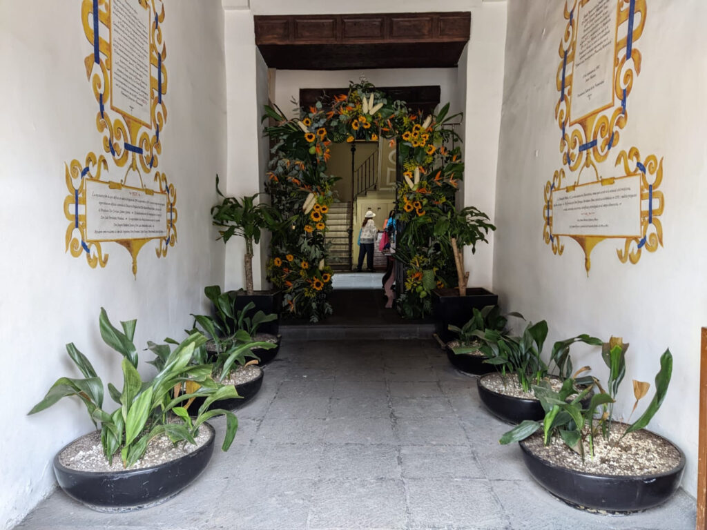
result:
[[[228,451],[238,420],[230,411],[209,407],[236,393],[211,379],[210,365],[189,363],[194,349],[206,341],[201,334],[189,335],[174,350],[168,347],[162,369],[153,379],[144,379],[133,343],[136,321],[121,322],[120,331],[103,308],[99,320],[103,341],[122,355],[122,390],[107,386],[117,408],[105,408],[102,379],[69,343],[66,351],[83,377],[60,377],[29,413],[43,411],[65,396],[81,399],[98,430],[69,443],[54,457],[59,485],[93,510],[139,510],[173,497],[204,470],[214,450],[214,428],[206,420],[218,414],[226,416],[221,449]],[[198,382],[199,390],[175,396],[175,387],[187,380]],[[204,402],[192,419],[183,404],[196,395]]]

